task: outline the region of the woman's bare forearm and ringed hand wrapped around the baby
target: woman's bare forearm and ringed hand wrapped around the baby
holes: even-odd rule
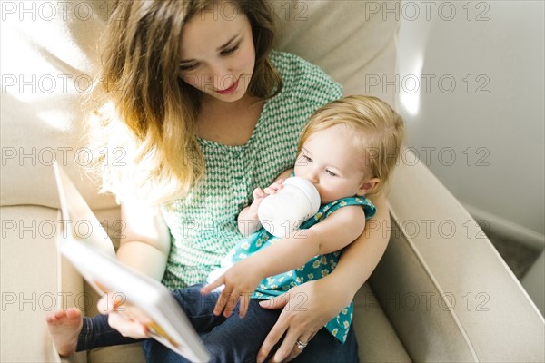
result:
[[[270,301],[263,301],[261,305],[266,309],[285,308],[265,338],[258,353],[258,362],[263,362],[284,333],[282,345],[272,361],[291,360],[301,354],[302,349],[296,348],[295,342],[308,342],[350,304],[355,293],[371,276],[390,240],[388,202],[383,194],[372,198],[372,202],[377,207],[377,214],[367,221],[362,235],[344,250],[341,260],[330,275],[306,282]],[[306,298],[305,309],[289,309],[301,303],[297,300],[301,296]]]

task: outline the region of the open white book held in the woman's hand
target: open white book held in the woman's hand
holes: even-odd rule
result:
[[[99,293],[114,293],[149,320],[152,337],[192,361],[207,362],[208,354],[189,319],[159,281],[124,267],[115,258],[112,241],[84,198],[55,162],[54,175],[61,201],[61,232],[57,246]],[[82,223],[87,228],[76,228]],[[85,230],[84,236],[78,230]]]

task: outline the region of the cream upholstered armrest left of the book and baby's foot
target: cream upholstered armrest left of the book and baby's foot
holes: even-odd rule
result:
[[[59,258],[55,249],[57,210],[35,205],[2,206],[0,313],[2,362],[58,362],[45,316],[57,301],[73,304],[70,290],[58,283]]]

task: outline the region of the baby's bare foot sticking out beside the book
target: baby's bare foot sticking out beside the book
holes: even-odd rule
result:
[[[74,354],[77,337],[84,325],[82,312],[75,308],[60,310],[48,315],[45,321],[59,354],[63,357]]]

